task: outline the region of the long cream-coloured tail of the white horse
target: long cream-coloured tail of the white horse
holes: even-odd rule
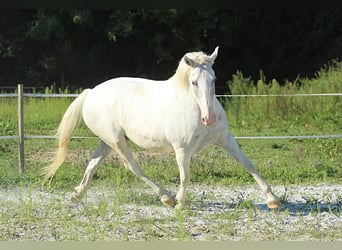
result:
[[[58,149],[56,157],[53,163],[43,168],[42,175],[44,175],[44,183],[54,176],[58,168],[65,160],[68,145],[73,131],[82,122],[82,107],[84,99],[87,96],[90,89],[85,89],[68,107],[65,111],[62,121],[58,126],[57,138]]]

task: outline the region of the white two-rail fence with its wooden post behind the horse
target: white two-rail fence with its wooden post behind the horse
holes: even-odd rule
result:
[[[56,139],[51,135],[24,135],[23,124],[23,97],[35,98],[66,98],[77,97],[79,94],[38,94],[38,93],[23,93],[23,85],[18,85],[18,93],[0,94],[0,98],[18,98],[18,135],[0,136],[0,140],[18,140],[19,150],[19,173],[24,172],[24,140],[25,139]],[[270,95],[216,95],[216,97],[301,97],[301,96],[342,96],[342,93],[312,93],[312,94],[270,94]],[[72,138],[87,139],[96,137],[73,136]],[[260,139],[329,139],[342,138],[342,134],[331,135],[275,135],[275,136],[234,136],[236,139],[260,140]]]

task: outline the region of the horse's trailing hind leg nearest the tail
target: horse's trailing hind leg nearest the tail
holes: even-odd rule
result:
[[[93,156],[88,163],[87,169],[84,173],[83,179],[79,186],[75,188],[75,192],[71,194],[71,201],[76,202],[82,198],[82,196],[86,193],[88,185],[96,172],[97,168],[101,164],[102,160],[110,153],[112,149],[105,144],[103,141],[100,142],[100,145],[97,147]]]

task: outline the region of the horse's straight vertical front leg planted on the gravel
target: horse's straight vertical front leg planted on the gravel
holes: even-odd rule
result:
[[[185,191],[190,181],[191,156],[185,152],[184,148],[175,149],[175,152],[180,175],[180,186],[176,195],[176,208],[181,209],[185,206]]]

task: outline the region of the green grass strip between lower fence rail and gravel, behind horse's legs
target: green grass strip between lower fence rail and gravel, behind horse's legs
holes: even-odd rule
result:
[[[3,142],[2,142],[3,143]],[[95,148],[96,139],[79,139],[71,142],[67,161],[58,170],[52,186],[72,189],[80,182],[90,159],[89,149]],[[240,140],[240,146],[255,163],[259,173],[271,184],[341,183],[341,151],[339,139],[249,141]],[[26,172],[18,175],[17,144],[7,141],[0,153],[0,186],[18,183],[40,184],[39,171],[54,156],[53,140],[26,142]],[[93,147],[91,146],[93,145]],[[144,151],[138,161],[146,174],[163,186],[179,183],[178,167],[174,154],[149,155]],[[191,162],[192,183],[220,185],[254,184],[245,169],[215,146],[195,155]],[[115,154],[110,155],[98,169],[93,181],[98,184],[115,184],[134,187],[143,182],[127,171]]]

